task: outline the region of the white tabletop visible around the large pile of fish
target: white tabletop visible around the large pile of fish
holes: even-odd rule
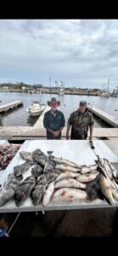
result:
[[[97,160],[96,154],[100,157],[108,158],[110,162],[118,162],[117,156],[104,144],[103,141],[94,141],[95,149],[90,148],[89,141],[81,140],[26,140],[25,143],[20,147],[20,150],[15,154],[14,159],[10,162],[6,168],[3,176],[0,177],[0,184],[7,180],[8,173],[12,173],[14,166],[20,165],[25,162],[21,160],[20,151],[30,151],[37,148],[41,148],[42,152],[47,154],[48,150],[53,151],[53,155],[57,157],[63,157],[65,159],[71,160],[79,165],[93,165],[95,160]],[[31,168],[25,172],[24,178],[28,177],[31,173]],[[34,207],[31,197],[29,197],[21,207],[16,207],[14,199],[9,201],[3,207],[0,207],[0,212],[37,212],[37,211],[50,211],[50,210],[66,210],[66,209],[81,209],[81,208],[102,208],[110,207],[106,201],[101,201],[99,199],[92,202],[81,202],[77,203],[53,203],[50,202],[47,207],[42,207],[40,204]],[[118,202],[115,202],[115,207],[118,207]]]

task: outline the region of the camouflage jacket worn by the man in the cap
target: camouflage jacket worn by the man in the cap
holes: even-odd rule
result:
[[[94,125],[93,114],[88,109],[81,113],[79,109],[70,114],[68,125],[71,125],[71,138],[87,137],[88,126]]]

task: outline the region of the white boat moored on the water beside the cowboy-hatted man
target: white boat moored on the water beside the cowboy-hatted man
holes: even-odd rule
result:
[[[31,106],[25,110],[30,113],[31,116],[39,116],[45,108],[45,104],[40,104],[40,102],[33,102]]]

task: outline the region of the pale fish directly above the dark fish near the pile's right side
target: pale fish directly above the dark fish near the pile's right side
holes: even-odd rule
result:
[[[88,183],[93,179],[95,179],[98,175],[99,175],[99,172],[82,174],[77,176],[76,180],[78,180],[80,183]]]

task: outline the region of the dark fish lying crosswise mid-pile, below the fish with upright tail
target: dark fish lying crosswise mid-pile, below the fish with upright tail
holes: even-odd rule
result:
[[[42,176],[39,177],[38,183],[40,184],[48,184],[50,182],[53,182],[56,177],[58,177],[58,173],[56,172],[46,172]]]

